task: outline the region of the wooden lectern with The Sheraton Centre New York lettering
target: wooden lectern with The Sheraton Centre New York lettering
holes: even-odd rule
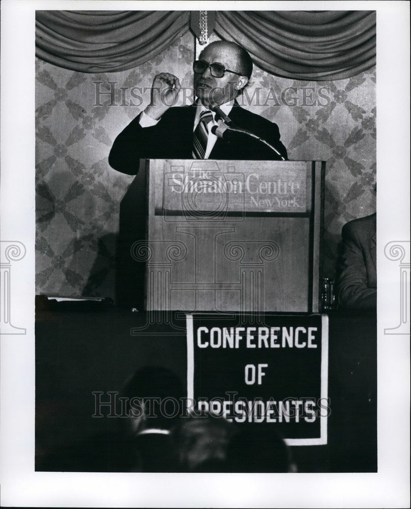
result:
[[[316,313],[325,163],[148,160],[147,310]]]

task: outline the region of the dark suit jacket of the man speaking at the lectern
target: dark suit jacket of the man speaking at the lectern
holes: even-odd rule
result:
[[[140,159],[192,159],[195,116],[195,105],[174,107],[163,114],[158,124],[145,128],[139,124],[140,116],[136,117],[115,139],[108,157],[110,166],[119,172],[136,175]],[[248,129],[264,138],[287,159],[277,124],[241,108],[237,103],[233,105],[230,118],[236,127]],[[280,159],[253,138],[238,136],[231,142],[218,138],[210,159]]]

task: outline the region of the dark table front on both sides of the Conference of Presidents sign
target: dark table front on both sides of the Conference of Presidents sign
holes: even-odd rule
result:
[[[329,317],[328,443],[292,448],[300,472],[375,472],[377,469],[376,314],[332,310]],[[135,334],[135,332],[138,334]],[[64,445],[107,431],[92,418],[95,391],[120,391],[144,365],[166,367],[186,379],[185,320],[107,301],[36,305],[36,468]]]

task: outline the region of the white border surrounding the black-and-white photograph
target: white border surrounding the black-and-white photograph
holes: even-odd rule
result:
[[[130,10],[148,2],[4,0],[1,16],[1,238],[26,247],[10,306],[21,335],[2,335],[1,504],[54,507],[406,507],[409,335],[399,318],[390,241],[409,240],[407,2],[156,2],[157,10],[377,11],[378,473],[146,474],[34,471],[35,10]],[[18,77],[18,79],[16,79]],[[24,77],[24,79],[22,79]]]

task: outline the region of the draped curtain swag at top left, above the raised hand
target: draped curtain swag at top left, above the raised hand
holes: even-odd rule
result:
[[[36,55],[72,71],[124,71],[167,49],[189,19],[189,11],[36,11]]]

